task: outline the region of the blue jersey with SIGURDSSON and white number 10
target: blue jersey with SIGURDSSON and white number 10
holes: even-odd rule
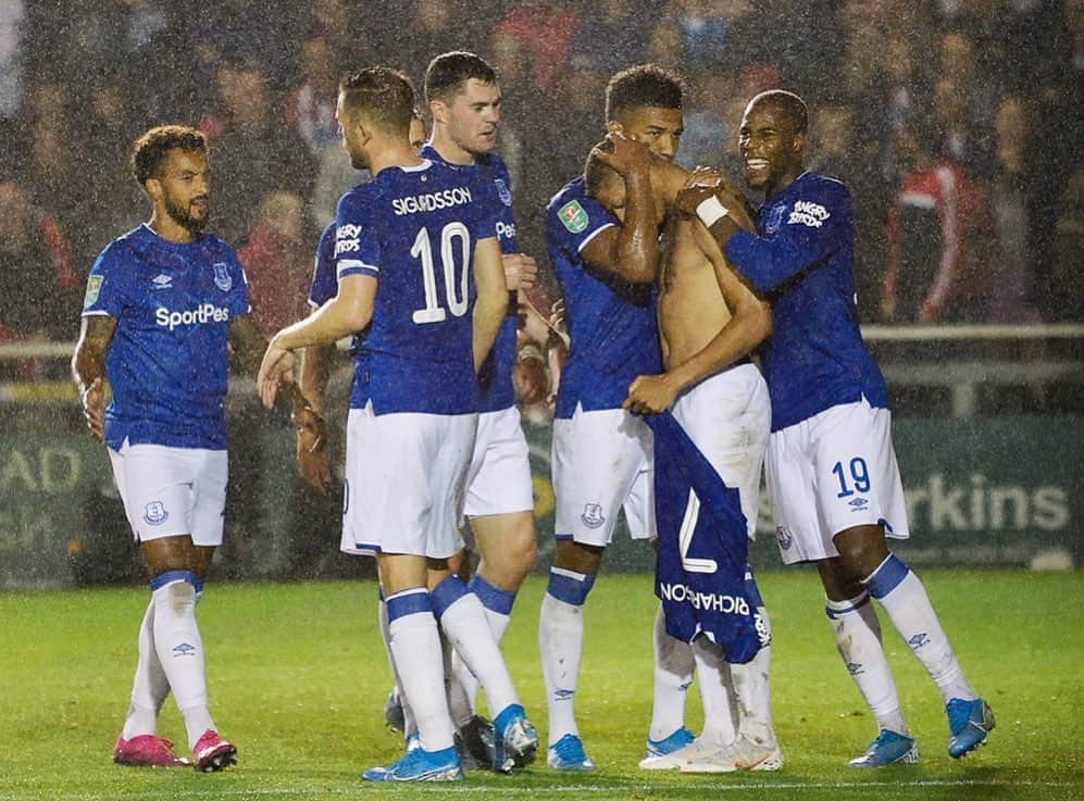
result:
[[[474,247],[496,236],[473,173],[423,161],[382,170],[339,200],[338,279],[378,281],[354,355],[350,404],[376,414],[478,410],[472,330]]]

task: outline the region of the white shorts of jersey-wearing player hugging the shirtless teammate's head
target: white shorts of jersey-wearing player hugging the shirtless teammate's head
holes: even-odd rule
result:
[[[633,539],[653,539],[655,473],[651,429],[623,409],[553,421],[553,493],[558,539],[605,547],[618,510]]]

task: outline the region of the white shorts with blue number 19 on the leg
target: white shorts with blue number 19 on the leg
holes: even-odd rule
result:
[[[892,446],[892,413],[863,398],[772,434],[768,492],[785,564],[838,556],[832,537],[883,524],[907,539],[904,485]]]

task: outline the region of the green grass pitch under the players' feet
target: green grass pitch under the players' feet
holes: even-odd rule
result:
[[[512,777],[473,773],[462,784],[424,787],[358,780],[362,768],[400,753],[383,727],[389,679],[371,583],[209,586],[200,626],[212,713],[240,749],[236,768],[213,775],[110,761],[127,709],[145,590],[0,595],[0,799],[1084,797],[1084,575],[925,571],[923,579],[969,679],[998,721],[990,744],[962,761],[945,751],[936,689],[886,625],[922,761],[873,772],[846,766],[874,725],[835,653],[815,576],[792,571],[760,577],[775,633],[772,692],[783,771],[684,777],[638,771],[656,601],[649,577],[607,575],[588,603],[577,698],[581,731],[599,769],[571,776],[539,762]],[[524,587],[504,647],[543,737],[536,626],[544,589],[540,578]],[[691,694],[689,723],[698,726]],[[185,739],[172,701],[160,734]]]

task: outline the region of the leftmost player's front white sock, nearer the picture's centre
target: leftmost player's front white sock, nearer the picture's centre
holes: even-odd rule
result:
[[[152,592],[154,601],[154,650],[170,689],[185,718],[188,747],[208,729],[214,728],[207,705],[207,675],[203,663],[203,640],[196,625],[196,587],[191,579],[174,578],[159,584]],[[154,586],[152,581],[152,586]]]

